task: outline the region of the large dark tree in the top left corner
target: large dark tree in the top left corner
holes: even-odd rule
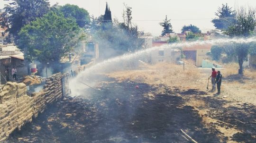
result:
[[[21,27],[46,14],[49,6],[48,0],[12,0],[5,6],[0,23],[18,40]]]

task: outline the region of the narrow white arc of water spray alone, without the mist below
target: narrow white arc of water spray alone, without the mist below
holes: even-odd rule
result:
[[[111,58],[104,60],[100,63],[95,64],[94,66],[91,66],[87,69],[85,69],[82,73],[80,73],[78,76],[76,76],[73,80],[70,81],[70,88],[72,91],[81,91],[84,87],[79,87],[76,83],[78,81],[81,81],[81,79],[86,78],[86,76],[90,76],[91,74],[99,73],[99,72],[109,72],[109,71],[115,71],[117,70],[118,66],[123,66],[123,62],[128,62],[132,59],[137,59],[142,57],[143,55],[146,55],[150,53],[152,50],[159,50],[165,49],[165,48],[175,48],[175,47],[189,47],[196,44],[211,44],[211,45],[217,45],[217,44],[224,44],[224,43],[249,43],[249,42],[256,42],[256,37],[251,38],[222,38],[222,39],[214,39],[214,40],[208,40],[208,41],[195,41],[195,42],[181,42],[181,43],[173,43],[173,44],[166,44],[165,46],[160,47],[154,47],[146,50],[139,50],[135,53],[129,53],[124,54],[119,57]]]

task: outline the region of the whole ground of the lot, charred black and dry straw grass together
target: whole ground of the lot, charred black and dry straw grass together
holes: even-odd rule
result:
[[[7,143],[189,143],[181,129],[198,143],[256,143],[254,101],[225,93],[232,74],[224,76],[221,95],[206,91],[208,74],[163,63],[101,75],[101,91],[56,103]]]

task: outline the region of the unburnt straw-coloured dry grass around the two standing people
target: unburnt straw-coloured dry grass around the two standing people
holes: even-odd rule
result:
[[[111,73],[108,76],[114,77],[119,81],[165,84],[172,90],[178,89],[187,91],[186,93],[189,95],[195,94],[196,96],[181,95],[185,101],[184,104],[192,106],[198,111],[205,126],[213,127],[220,133],[219,136],[223,136],[221,142],[241,143],[243,142],[242,140],[235,141],[234,138],[236,135],[242,134],[243,131],[239,130],[237,125],[230,124],[227,117],[234,117],[234,120],[237,120],[237,122],[244,126],[248,123],[248,126],[255,124],[255,115],[247,114],[247,108],[254,110],[254,112],[256,109],[256,71],[246,69],[244,76],[237,75],[238,65],[236,64],[225,65],[225,68],[217,70],[220,70],[223,75],[220,95],[216,94],[216,92],[206,90],[211,69],[196,68],[188,63],[186,63],[184,70],[183,66],[162,63],[154,66],[143,66],[141,70],[119,71]],[[209,89],[211,89],[210,83]],[[201,93],[193,93],[193,90],[201,91]],[[216,106],[218,109],[212,108],[211,106]],[[239,114],[244,113],[244,115],[230,115],[234,114],[233,112],[239,112]],[[224,117],[224,115],[227,117]],[[223,125],[220,125],[219,122]],[[244,143],[256,142],[255,128],[253,128],[253,132],[251,133],[250,137],[252,139],[244,141]]]

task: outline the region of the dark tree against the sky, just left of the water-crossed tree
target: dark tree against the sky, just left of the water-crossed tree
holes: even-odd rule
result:
[[[227,29],[235,21],[235,11],[227,3],[226,5],[222,4],[222,7],[218,8],[215,15],[217,18],[212,19],[211,22],[220,30]]]

